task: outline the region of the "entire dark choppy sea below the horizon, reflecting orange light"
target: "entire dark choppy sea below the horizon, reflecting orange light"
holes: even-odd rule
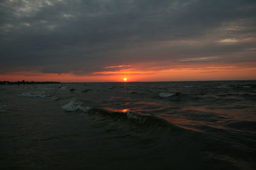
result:
[[[256,167],[256,81],[12,85],[0,93],[3,169]]]

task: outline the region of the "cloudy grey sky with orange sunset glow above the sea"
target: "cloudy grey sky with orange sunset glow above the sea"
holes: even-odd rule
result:
[[[0,81],[124,78],[256,80],[256,1],[0,1]]]

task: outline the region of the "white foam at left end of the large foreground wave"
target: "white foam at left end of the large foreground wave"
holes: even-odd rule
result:
[[[61,108],[65,111],[83,111],[88,112],[90,109],[89,106],[84,106],[85,101],[83,99],[72,99],[70,103],[65,104]]]

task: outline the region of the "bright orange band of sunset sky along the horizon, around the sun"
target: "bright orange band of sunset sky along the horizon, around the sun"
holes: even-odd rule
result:
[[[41,73],[24,71],[0,74],[0,81],[61,81],[65,82],[115,82],[115,81],[209,81],[209,80],[256,80],[256,63],[237,63],[222,65],[177,66],[172,69],[156,67],[157,64],[140,64],[131,69],[102,71],[91,74]],[[154,66],[154,67],[153,67]]]

